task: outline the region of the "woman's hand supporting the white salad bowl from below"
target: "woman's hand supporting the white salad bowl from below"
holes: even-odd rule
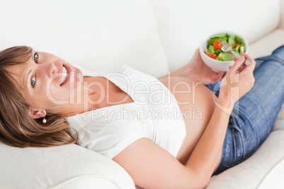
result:
[[[223,71],[216,73],[203,62],[199,49],[196,49],[192,59],[184,66],[184,73],[182,74],[184,77],[201,81],[203,85],[216,83],[224,75]]]

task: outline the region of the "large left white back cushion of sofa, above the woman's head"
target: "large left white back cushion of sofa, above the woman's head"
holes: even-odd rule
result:
[[[94,71],[168,70],[150,0],[0,1],[0,26],[0,49],[28,45]]]

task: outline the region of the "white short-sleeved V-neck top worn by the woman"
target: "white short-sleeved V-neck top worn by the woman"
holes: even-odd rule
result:
[[[177,99],[160,80],[126,65],[109,71],[76,67],[83,75],[105,77],[134,100],[69,116],[79,145],[112,159],[132,142],[148,138],[177,157],[187,134],[184,118]]]

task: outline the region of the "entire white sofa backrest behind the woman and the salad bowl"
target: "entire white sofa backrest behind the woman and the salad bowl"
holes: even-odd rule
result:
[[[271,32],[280,1],[0,1],[0,49],[29,45],[92,70],[127,64],[158,77],[186,64],[211,30],[248,42]]]

